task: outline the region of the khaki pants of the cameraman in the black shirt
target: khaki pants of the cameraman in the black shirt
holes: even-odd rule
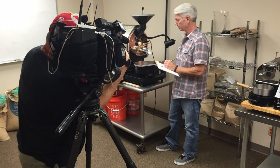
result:
[[[20,164],[22,165],[22,168],[50,168],[46,166],[44,162],[36,160],[32,156],[25,155],[20,151],[18,151],[18,153],[19,153],[19,160],[20,160]],[[59,167],[56,164],[53,168],[59,168]],[[61,168],[66,168],[66,167],[61,167]],[[77,168],[77,165],[75,165],[75,168]]]

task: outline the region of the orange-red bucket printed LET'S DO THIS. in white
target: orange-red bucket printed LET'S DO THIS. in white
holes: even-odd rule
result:
[[[117,90],[117,95],[112,96],[107,103],[107,112],[112,121],[120,121],[126,118],[126,99],[127,92]],[[116,92],[114,94],[116,94]]]

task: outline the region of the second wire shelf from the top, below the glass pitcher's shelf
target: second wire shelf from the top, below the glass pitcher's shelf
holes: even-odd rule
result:
[[[237,69],[243,70],[244,63],[243,62],[236,62],[236,61],[227,61],[227,60],[218,60],[209,63],[210,66],[222,67],[222,68],[229,68],[229,69]],[[246,70],[255,68],[256,64],[246,63]]]

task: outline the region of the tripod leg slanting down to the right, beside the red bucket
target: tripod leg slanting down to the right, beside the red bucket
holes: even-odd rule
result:
[[[104,111],[103,111],[104,112]],[[111,138],[113,139],[116,147],[118,148],[120,154],[122,155],[123,160],[125,161],[126,167],[130,167],[130,168],[137,168],[135,163],[132,161],[132,159],[130,158],[127,150],[125,149],[122,140],[120,139],[120,137],[118,136],[112,121],[109,119],[108,115],[106,115],[107,113],[100,113],[99,117],[101,119],[101,121],[103,122],[104,126],[107,128]]]

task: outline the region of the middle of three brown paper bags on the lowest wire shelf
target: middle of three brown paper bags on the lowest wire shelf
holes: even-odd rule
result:
[[[222,120],[225,118],[225,108],[227,106],[227,102],[223,101],[224,98],[216,97],[214,102],[214,107],[211,116],[217,120]]]

